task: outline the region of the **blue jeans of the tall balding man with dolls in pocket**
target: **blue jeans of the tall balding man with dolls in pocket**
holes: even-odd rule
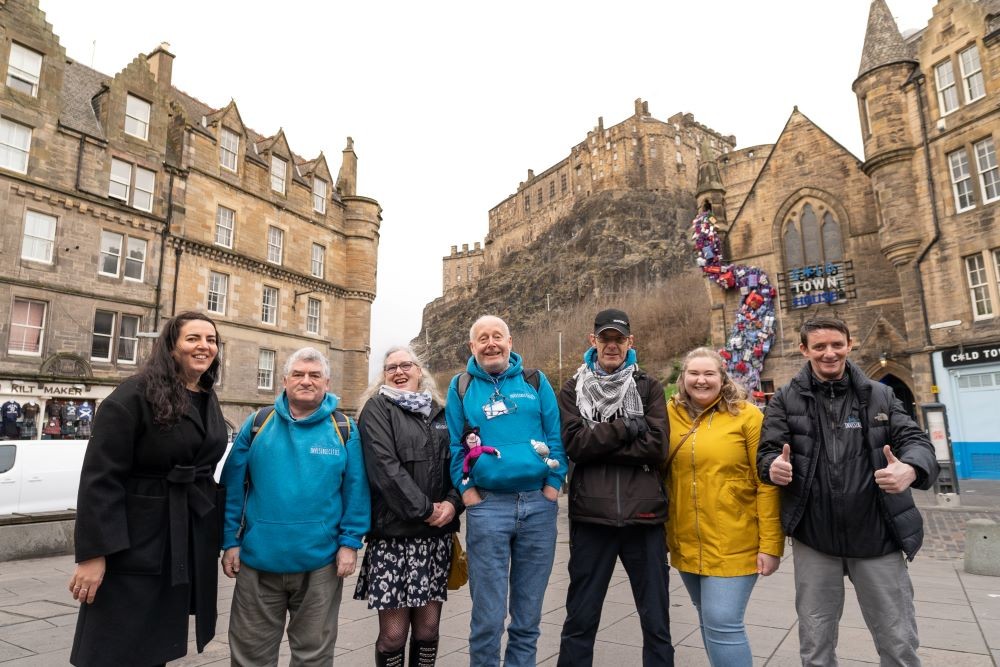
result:
[[[539,491],[479,490],[483,501],[465,509],[472,627],[470,667],[500,664],[500,636],[508,612],[506,667],[531,667],[542,600],[556,551],[559,505]]]

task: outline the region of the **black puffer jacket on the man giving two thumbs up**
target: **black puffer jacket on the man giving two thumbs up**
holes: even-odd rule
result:
[[[878,489],[874,473],[887,465],[882,448],[888,444],[892,446],[896,458],[910,464],[916,471],[917,478],[912,486],[918,489],[929,488],[938,473],[934,448],[903,409],[903,404],[890,387],[871,381],[850,361],[847,362],[847,374],[860,405],[862,440],[867,449],[868,465],[844,468],[846,478],[842,481],[845,491],[851,493],[853,489],[857,494],[867,494],[875,487],[874,493],[882,518],[899,548],[906,553],[907,558],[913,560],[924,536],[923,519],[913,503],[913,496],[909,489],[902,493],[885,493]],[[812,370],[806,363],[791,382],[775,393],[764,413],[764,428],[757,450],[757,471],[762,480],[770,482],[771,463],[781,454],[784,443],[791,445],[792,482],[781,490],[781,524],[788,535],[796,535],[799,522],[810,502],[810,493],[829,493],[827,487],[817,479],[820,461],[829,465],[823,459],[823,435],[819,416],[821,409],[820,399],[813,392]],[[833,500],[826,495],[817,499],[835,507]],[[862,523],[856,518],[852,521],[851,517],[847,517],[842,528],[849,531],[849,534],[833,534],[838,522],[831,517],[825,540],[817,538],[823,534],[823,530],[817,530],[816,526],[811,526],[809,530],[811,537],[829,544],[810,546],[832,555],[845,555],[836,553],[837,547],[834,545],[845,542],[864,544],[865,540],[877,540],[877,536],[884,533],[878,527],[866,528]],[[875,544],[871,546],[873,549],[878,548]]]

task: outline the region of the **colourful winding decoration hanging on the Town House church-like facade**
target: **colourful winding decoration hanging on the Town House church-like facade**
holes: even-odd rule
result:
[[[739,290],[742,296],[726,346],[719,354],[730,376],[755,401],[762,402],[760,369],[774,341],[774,301],[778,290],[761,268],[723,263],[722,239],[710,208],[699,213],[691,224],[696,261],[705,277],[722,289]]]

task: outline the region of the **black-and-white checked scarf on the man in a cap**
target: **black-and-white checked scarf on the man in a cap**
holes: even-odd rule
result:
[[[643,415],[642,398],[633,376],[635,350],[629,350],[621,368],[606,375],[594,371],[597,367],[595,348],[587,350],[583,361],[576,371],[576,406],[591,428],[595,423],[608,422],[618,416]]]

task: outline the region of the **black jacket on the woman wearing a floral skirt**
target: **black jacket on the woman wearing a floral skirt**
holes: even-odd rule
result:
[[[429,417],[373,396],[358,417],[365,471],[372,496],[369,537],[434,537],[459,529],[462,499],[448,474],[451,453],[444,408]],[[424,522],[434,503],[455,506],[455,518],[435,528]]]

